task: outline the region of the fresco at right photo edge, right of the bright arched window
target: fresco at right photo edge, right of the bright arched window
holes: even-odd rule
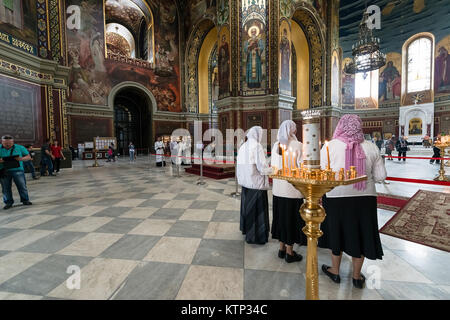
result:
[[[435,93],[450,92],[450,35],[436,45],[434,91]]]

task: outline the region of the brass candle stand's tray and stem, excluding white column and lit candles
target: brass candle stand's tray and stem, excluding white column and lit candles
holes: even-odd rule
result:
[[[274,168],[272,179],[286,180],[305,197],[305,202],[300,207],[300,215],[305,221],[303,232],[308,238],[306,255],[306,299],[319,300],[319,279],[317,263],[317,239],[323,232],[320,224],[325,220],[325,210],[319,204],[322,196],[335,187],[351,185],[367,179],[367,176],[357,176],[355,167],[339,172],[332,171],[329,167],[321,169],[297,168],[282,172]],[[336,179],[337,175],[337,179]]]

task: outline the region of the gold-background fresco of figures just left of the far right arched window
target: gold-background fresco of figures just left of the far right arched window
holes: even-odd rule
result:
[[[402,94],[402,55],[397,52],[386,54],[386,65],[380,68],[378,101],[400,100]]]

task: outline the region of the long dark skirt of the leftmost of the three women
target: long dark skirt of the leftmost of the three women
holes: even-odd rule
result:
[[[240,230],[247,243],[269,241],[269,200],[267,190],[242,187]]]

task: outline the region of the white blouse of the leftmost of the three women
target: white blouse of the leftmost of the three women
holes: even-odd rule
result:
[[[239,185],[248,189],[270,189],[268,175],[272,173],[264,149],[256,140],[249,139],[238,151],[236,175]]]

